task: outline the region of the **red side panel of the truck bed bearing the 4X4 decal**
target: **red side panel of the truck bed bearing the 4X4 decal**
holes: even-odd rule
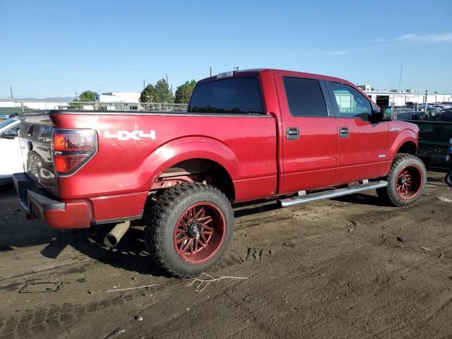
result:
[[[59,177],[61,198],[147,192],[156,177],[182,160],[220,163],[234,182],[236,200],[275,194],[273,117],[179,114],[53,114],[55,128],[95,129],[97,154],[76,174]],[[109,138],[120,131],[155,131],[149,137]]]

